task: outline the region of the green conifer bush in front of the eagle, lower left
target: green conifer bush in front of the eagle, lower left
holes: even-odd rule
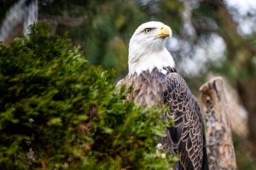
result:
[[[89,65],[44,22],[0,47],[0,169],[166,169],[166,110],[125,100],[116,71]]]

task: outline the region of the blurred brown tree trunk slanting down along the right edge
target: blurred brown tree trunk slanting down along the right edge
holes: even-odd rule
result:
[[[226,42],[229,62],[236,66],[237,72],[247,72],[248,78],[244,78],[244,74],[240,74],[239,78],[230,78],[232,81],[236,81],[236,89],[248,113],[248,139],[250,142],[249,147],[251,148],[249,152],[256,157],[256,79],[253,74],[253,71],[255,71],[253,64],[253,57],[256,56],[255,45],[250,38],[239,34],[237,24],[233,20],[224,0],[201,0],[201,5],[207,5],[214,12],[214,20],[218,24],[216,33],[223,37],[224,42]]]

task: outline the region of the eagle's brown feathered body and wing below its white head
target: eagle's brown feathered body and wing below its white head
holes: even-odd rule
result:
[[[135,100],[138,105],[158,102],[159,105],[169,106],[170,110],[163,113],[163,117],[172,116],[174,127],[166,128],[161,144],[170,153],[178,154],[180,161],[174,169],[208,169],[200,108],[183,77],[173,68],[164,69],[166,74],[154,68],[151,72],[127,76],[118,84],[132,85],[129,99]]]

